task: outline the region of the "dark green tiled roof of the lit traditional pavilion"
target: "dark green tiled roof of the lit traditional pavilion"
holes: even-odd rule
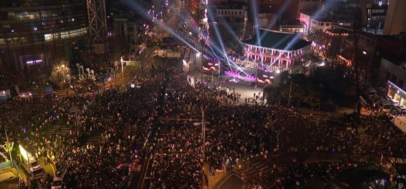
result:
[[[300,33],[292,34],[281,31],[259,29],[258,34],[255,34],[253,38],[241,41],[241,43],[279,50],[299,50],[311,44],[311,42],[304,41],[300,38],[301,36],[302,34]]]

